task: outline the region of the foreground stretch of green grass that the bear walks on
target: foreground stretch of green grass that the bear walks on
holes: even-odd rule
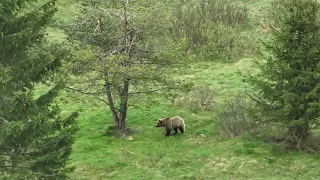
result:
[[[131,109],[129,137],[106,135],[105,108],[83,107],[73,146],[71,179],[316,179],[320,154],[289,152],[250,137],[224,139],[212,113],[161,105]],[[156,119],[179,114],[185,134],[165,137]]]

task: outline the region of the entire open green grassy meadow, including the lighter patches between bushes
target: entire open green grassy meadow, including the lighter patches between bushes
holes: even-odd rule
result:
[[[244,2],[252,13],[259,13],[271,0]],[[57,17],[63,21],[71,21],[77,14],[77,2],[58,0],[58,7]],[[48,33],[50,39],[65,39],[59,29],[49,28]],[[223,101],[250,89],[243,74],[255,71],[252,60],[253,57],[235,62],[193,62],[177,71],[185,80],[215,89],[213,110],[192,113],[172,106],[165,97],[156,98],[151,105],[138,102],[139,106],[130,107],[128,112],[127,123],[134,131],[130,136],[117,137],[107,131],[113,119],[105,104],[86,96],[74,101],[74,95],[63,92],[60,98],[63,113],[81,109],[69,163],[75,170],[70,178],[319,179],[320,153],[287,151],[246,135],[221,136],[215,125],[215,109]],[[184,134],[165,137],[164,128],[154,127],[157,119],[175,115],[185,119]]]

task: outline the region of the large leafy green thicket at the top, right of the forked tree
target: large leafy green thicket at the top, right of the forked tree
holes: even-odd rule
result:
[[[203,0],[179,2],[173,7],[170,34],[175,39],[185,39],[189,52],[210,59],[232,59],[257,49],[255,40],[241,33],[249,22],[245,6]]]

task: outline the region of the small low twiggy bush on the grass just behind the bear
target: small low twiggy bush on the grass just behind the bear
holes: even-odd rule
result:
[[[186,107],[196,113],[199,110],[211,110],[215,92],[210,86],[199,86],[175,99],[174,105]]]

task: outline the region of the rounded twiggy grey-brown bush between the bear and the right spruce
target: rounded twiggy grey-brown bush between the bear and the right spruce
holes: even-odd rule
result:
[[[217,109],[217,126],[227,137],[240,136],[243,133],[256,134],[258,124],[250,111],[253,103],[242,96],[227,101]]]

